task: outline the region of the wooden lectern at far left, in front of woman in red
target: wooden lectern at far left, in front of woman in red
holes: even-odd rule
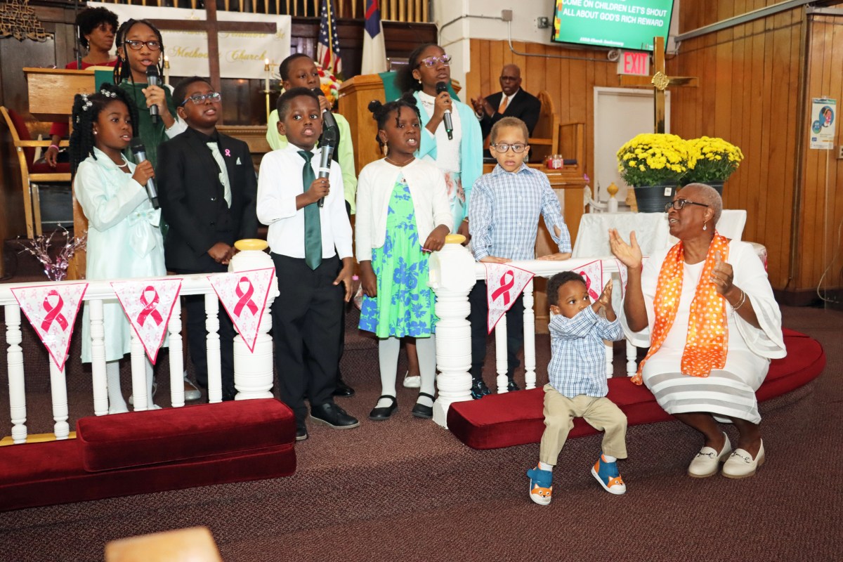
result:
[[[73,96],[94,93],[95,68],[97,67],[85,70],[24,68],[30,97],[30,113],[42,121],[69,120],[73,110]],[[76,201],[76,195],[73,195],[73,235],[81,237],[87,230],[88,219]],[[67,267],[67,279],[83,279],[84,276],[85,252],[79,251]]]

